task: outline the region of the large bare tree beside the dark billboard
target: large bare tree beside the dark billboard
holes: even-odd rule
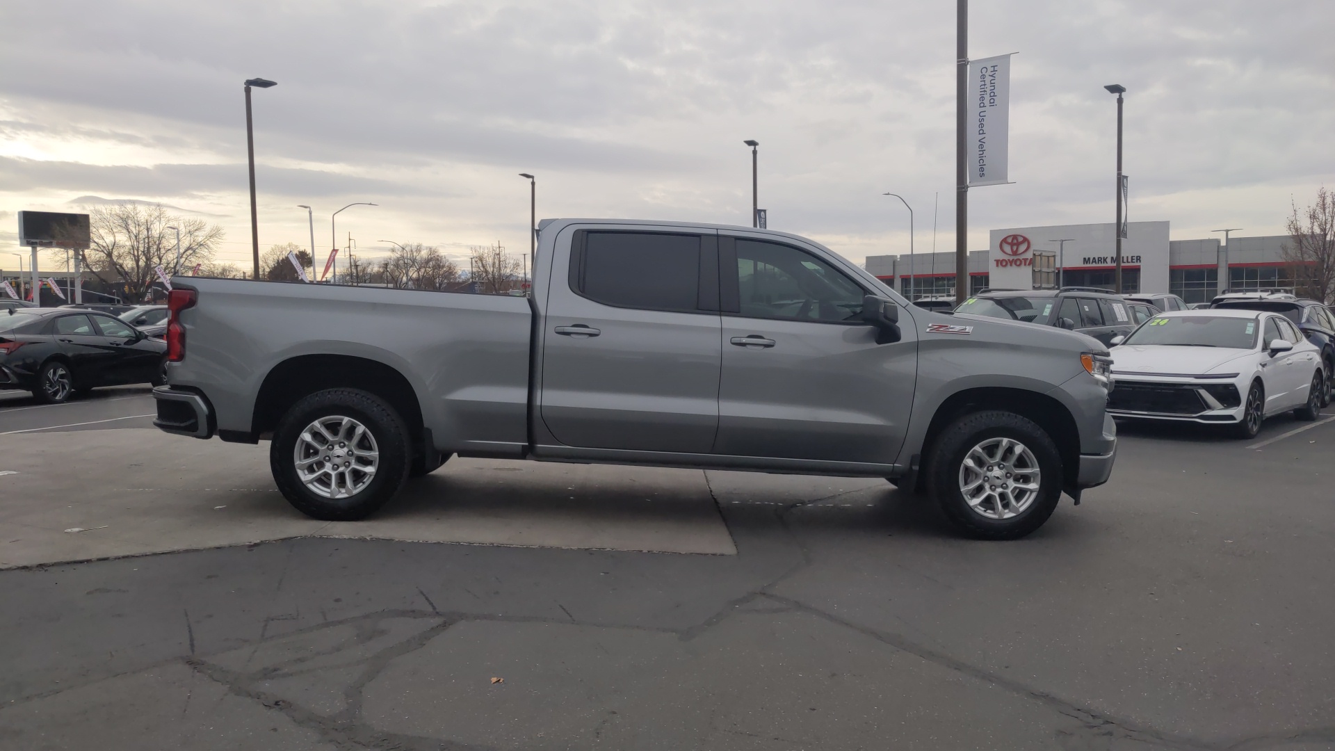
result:
[[[85,258],[88,270],[107,286],[125,290],[128,299],[140,299],[158,281],[154,270],[167,274],[176,269],[176,231],[180,230],[180,270],[214,258],[223,229],[203,219],[174,216],[162,206],[120,203],[89,210],[92,247]]]

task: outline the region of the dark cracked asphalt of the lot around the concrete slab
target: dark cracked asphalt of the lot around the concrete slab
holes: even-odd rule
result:
[[[0,398],[0,464],[13,430],[131,452],[148,405]],[[0,571],[0,748],[1332,748],[1330,420],[1124,429],[1112,481],[1011,543],[882,481],[627,468],[565,501],[689,485],[736,553],[302,533]],[[425,482],[481,505],[467,477]]]

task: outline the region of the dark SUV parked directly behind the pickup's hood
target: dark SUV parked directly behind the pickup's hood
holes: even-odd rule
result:
[[[1088,334],[1104,345],[1109,345],[1113,337],[1129,334],[1141,321],[1159,313],[1148,305],[1127,302],[1097,287],[984,290],[960,303],[955,311],[1060,326]]]

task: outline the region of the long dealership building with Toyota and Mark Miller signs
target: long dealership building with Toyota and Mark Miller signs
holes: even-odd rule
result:
[[[969,253],[969,291],[1052,286],[1113,289],[1113,223],[992,230],[988,250]],[[1061,242],[1065,241],[1065,242]],[[1292,289],[1288,235],[1168,239],[1168,222],[1129,222],[1121,241],[1123,290],[1172,293],[1210,302],[1227,289]],[[955,254],[869,255],[866,270],[914,299],[955,294]]]

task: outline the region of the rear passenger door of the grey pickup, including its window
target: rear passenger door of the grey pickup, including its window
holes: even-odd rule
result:
[[[713,231],[571,230],[553,259],[541,333],[541,414],[557,441],[709,453],[718,430],[717,258]]]

